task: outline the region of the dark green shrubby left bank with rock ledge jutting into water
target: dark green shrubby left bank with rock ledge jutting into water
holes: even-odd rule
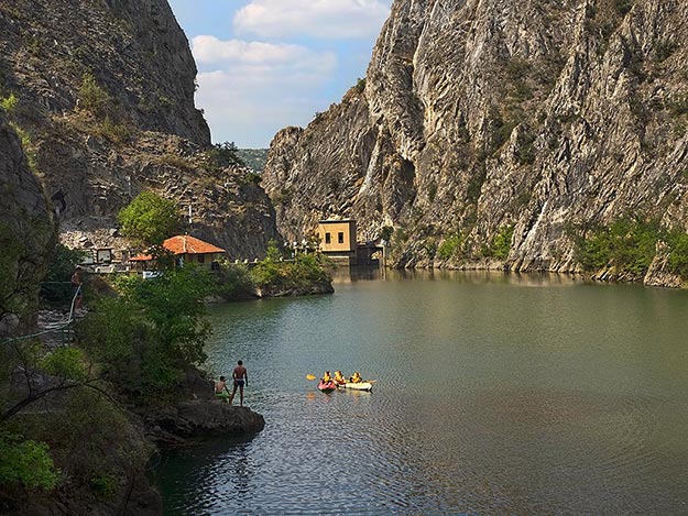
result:
[[[79,257],[61,246],[56,255],[63,274]],[[184,266],[148,279],[89,278],[88,312],[69,345],[3,342],[0,513],[162,514],[146,479],[159,447],[265,425],[212,396],[203,371],[206,301],[334,292],[331,272],[325,256],[284,260],[271,243],[252,268],[221,263],[217,273]],[[45,303],[54,307],[51,294]]]

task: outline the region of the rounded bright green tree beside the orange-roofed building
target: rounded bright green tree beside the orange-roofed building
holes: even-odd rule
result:
[[[160,248],[179,231],[182,216],[174,201],[142,191],[119,212],[122,234],[138,245]],[[160,252],[160,250],[159,250]]]

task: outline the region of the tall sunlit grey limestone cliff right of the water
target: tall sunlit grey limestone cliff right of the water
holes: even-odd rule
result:
[[[481,264],[520,271],[577,270],[570,228],[686,229],[686,42],[676,1],[396,0],[364,88],[273,140],[280,229],[391,226],[396,265],[452,267],[513,228],[506,260]],[[463,252],[437,253],[452,237]]]

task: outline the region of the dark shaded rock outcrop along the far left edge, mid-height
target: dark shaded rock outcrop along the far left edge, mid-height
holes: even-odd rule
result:
[[[56,241],[41,185],[29,169],[19,136],[0,111],[0,339],[35,322],[39,281]]]

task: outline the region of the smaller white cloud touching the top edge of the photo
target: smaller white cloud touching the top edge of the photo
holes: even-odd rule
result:
[[[390,13],[390,0],[252,0],[234,30],[262,37],[371,37]]]

